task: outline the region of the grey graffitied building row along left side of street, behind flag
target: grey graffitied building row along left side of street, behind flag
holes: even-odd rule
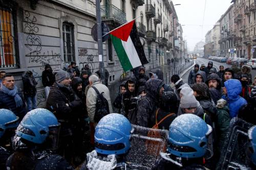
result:
[[[99,69],[98,45],[91,35],[96,23],[95,1],[3,0],[0,6],[0,70],[13,74],[21,90],[22,76],[31,70],[38,83],[37,107],[46,103],[41,83],[46,64],[62,69],[65,63],[75,61],[80,70],[86,64],[92,72]],[[178,27],[174,11],[167,0],[101,1],[101,18],[110,30],[142,16],[136,19],[136,26],[149,61],[147,69],[174,57],[173,37],[177,36]],[[111,39],[103,42],[103,61],[111,86],[123,73]]]

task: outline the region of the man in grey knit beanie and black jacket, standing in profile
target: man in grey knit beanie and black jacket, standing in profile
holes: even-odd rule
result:
[[[61,69],[53,70],[55,83],[51,87],[46,108],[61,123],[59,154],[71,161],[73,156],[72,119],[75,111],[82,106],[82,101],[77,98],[70,87],[70,74]]]

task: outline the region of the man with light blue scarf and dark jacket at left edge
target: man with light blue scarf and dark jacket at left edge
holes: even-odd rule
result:
[[[14,77],[6,74],[0,87],[0,109],[11,110],[19,119],[23,119],[26,112],[26,105],[22,93],[15,86]]]

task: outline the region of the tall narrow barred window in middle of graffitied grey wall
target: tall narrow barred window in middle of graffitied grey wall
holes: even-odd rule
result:
[[[70,63],[75,61],[74,48],[74,25],[72,23],[63,22],[63,47],[64,47],[64,61]]]

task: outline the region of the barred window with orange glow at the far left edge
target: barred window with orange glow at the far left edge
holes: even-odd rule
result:
[[[1,22],[0,22],[0,68],[17,68],[17,40],[15,30],[15,18],[13,11],[7,8],[0,8]]]

